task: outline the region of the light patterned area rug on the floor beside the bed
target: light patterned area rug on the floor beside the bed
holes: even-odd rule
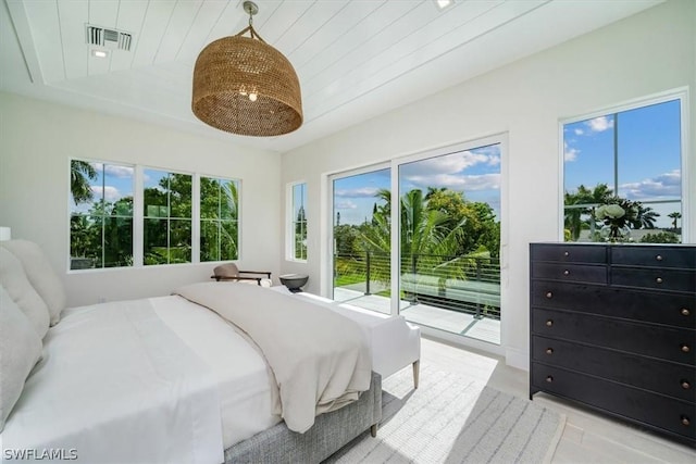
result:
[[[377,437],[363,434],[327,463],[545,463],[566,416],[461,375],[423,366],[383,383]]]

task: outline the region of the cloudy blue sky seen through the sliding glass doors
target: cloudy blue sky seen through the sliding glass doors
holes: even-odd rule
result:
[[[334,181],[334,214],[340,213],[341,224],[361,224],[372,217],[380,188],[390,188],[390,170],[344,177]],[[446,187],[464,192],[471,201],[488,203],[500,213],[500,147],[492,145],[472,150],[402,164],[399,167],[399,190]],[[334,217],[334,223],[336,218]]]

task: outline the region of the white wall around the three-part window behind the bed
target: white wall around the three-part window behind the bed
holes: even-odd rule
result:
[[[67,272],[70,158],[137,163],[241,179],[240,268],[279,268],[281,160],[130,120],[0,92],[0,225],[36,241],[71,305],[169,294],[210,280],[214,264]],[[262,226],[261,226],[262,225]]]

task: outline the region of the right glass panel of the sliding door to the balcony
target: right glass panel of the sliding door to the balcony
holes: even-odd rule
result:
[[[402,163],[400,313],[500,343],[500,145]]]

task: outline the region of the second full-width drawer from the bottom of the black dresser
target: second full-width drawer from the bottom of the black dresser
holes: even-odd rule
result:
[[[544,364],[696,402],[694,366],[538,336],[532,338],[532,356]]]

